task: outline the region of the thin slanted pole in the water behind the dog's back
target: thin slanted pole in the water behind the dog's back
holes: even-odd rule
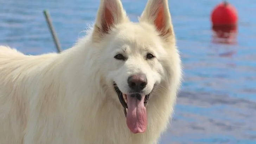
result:
[[[55,46],[56,46],[56,48],[58,50],[58,53],[60,53],[61,52],[61,46],[60,46],[59,40],[57,38],[57,34],[56,34],[56,32],[55,32],[55,30],[53,28],[50,14],[49,14],[49,12],[47,10],[44,10],[44,16],[45,16],[45,19],[47,21],[48,27],[49,27],[49,29],[51,31],[52,38],[54,40]]]

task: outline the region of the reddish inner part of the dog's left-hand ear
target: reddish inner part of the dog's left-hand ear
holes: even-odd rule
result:
[[[102,31],[108,33],[110,27],[113,25],[114,17],[108,8],[105,8],[104,19],[102,20]]]

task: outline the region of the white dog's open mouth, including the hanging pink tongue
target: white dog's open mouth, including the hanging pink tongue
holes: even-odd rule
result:
[[[124,108],[126,123],[130,131],[133,133],[145,132],[147,127],[146,106],[150,93],[147,95],[140,93],[124,94],[119,90],[115,82],[113,86]]]

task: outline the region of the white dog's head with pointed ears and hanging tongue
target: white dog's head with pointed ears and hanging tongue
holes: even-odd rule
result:
[[[170,77],[169,51],[177,53],[168,1],[149,0],[133,23],[120,0],[101,0],[92,40],[102,48],[99,63],[124,107],[127,126],[133,133],[145,132],[149,97]]]

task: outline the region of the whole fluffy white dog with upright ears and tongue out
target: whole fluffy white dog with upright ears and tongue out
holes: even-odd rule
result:
[[[92,31],[60,54],[0,46],[0,143],[158,143],[181,76],[167,0],[138,23],[101,0]]]

